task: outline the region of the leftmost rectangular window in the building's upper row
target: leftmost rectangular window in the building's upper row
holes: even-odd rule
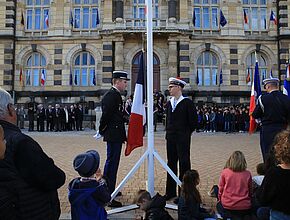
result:
[[[49,25],[50,0],[26,0],[26,29],[46,30]]]

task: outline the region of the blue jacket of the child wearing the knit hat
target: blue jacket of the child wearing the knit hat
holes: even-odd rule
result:
[[[81,182],[77,178],[70,182],[68,189],[72,220],[107,220],[104,206],[111,195],[104,181]]]

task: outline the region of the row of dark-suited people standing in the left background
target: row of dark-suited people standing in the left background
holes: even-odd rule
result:
[[[70,106],[49,104],[47,108],[44,108],[43,104],[38,104],[36,108],[33,105],[29,105],[28,109],[24,109],[24,106],[21,105],[17,109],[17,116],[17,124],[20,129],[24,129],[25,121],[28,120],[28,131],[61,132],[83,130],[84,111],[81,104]]]

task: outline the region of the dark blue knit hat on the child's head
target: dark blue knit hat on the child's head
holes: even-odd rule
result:
[[[79,154],[75,157],[73,166],[80,176],[90,177],[99,169],[100,155],[95,150],[89,150],[84,154]]]

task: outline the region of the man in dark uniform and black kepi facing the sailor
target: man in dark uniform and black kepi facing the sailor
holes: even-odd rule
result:
[[[127,81],[129,80],[127,76],[127,72],[114,71],[113,86],[102,99],[99,133],[104,136],[104,141],[107,142],[107,160],[104,175],[108,178],[110,193],[115,190],[122,144],[126,141],[123,101],[120,92],[125,91],[127,87]],[[112,200],[109,206],[121,207],[122,204]]]

